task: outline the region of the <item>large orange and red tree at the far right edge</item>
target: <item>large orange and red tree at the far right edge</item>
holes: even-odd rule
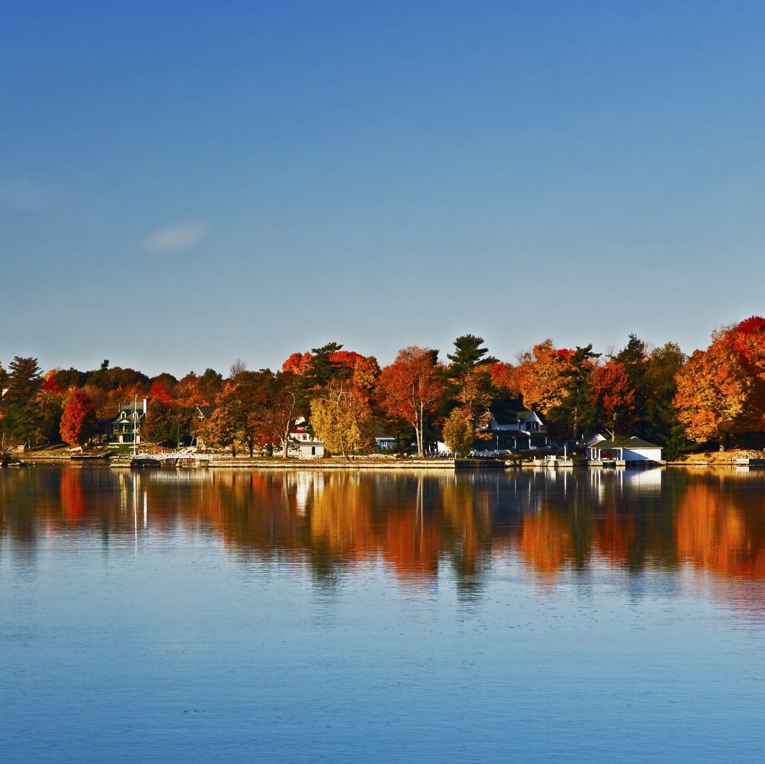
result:
[[[765,320],[716,331],[675,376],[675,406],[697,443],[765,429]]]

